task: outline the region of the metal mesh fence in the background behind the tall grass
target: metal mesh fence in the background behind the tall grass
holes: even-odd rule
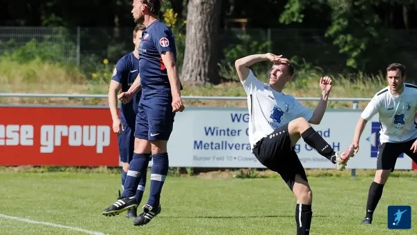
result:
[[[88,67],[90,63],[101,62],[104,58],[115,63],[122,55],[133,50],[132,31],[131,28],[0,27],[0,56],[17,51],[15,56],[24,55],[28,59],[39,55],[49,56],[57,61],[67,61],[84,67]],[[371,51],[370,58],[380,62],[382,69],[386,63],[395,60],[409,65],[413,70],[416,67],[414,65],[417,65],[417,59],[414,58],[417,45],[413,43],[417,40],[417,30],[388,30],[386,35],[389,43]],[[275,51],[296,56],[301,62],[305,60],[312,65],[332,67],[334,71],[340,71],[345,67],[347,59],[333,44],[332,38],[325,36],[323,29],[243,31],[232,28],[220,30],[216,37],[220,63],[236,59],[236,56]],[[185,48],[183,44],[183,41],[177,40],[180,52]]]

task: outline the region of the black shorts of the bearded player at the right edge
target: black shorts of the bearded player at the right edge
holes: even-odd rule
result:
[[[408,140],[402,143],[382,143],[378,147],[378,159],[377,159],[377,170],[389,170],[394,171],[395,163],[397,162],[400,154],[407,154],[411,159],[417,163],[417,154],[414,154],[410,150],[413,145],[413,140]]]

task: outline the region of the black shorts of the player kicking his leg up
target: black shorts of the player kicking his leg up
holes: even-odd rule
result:
[[[291,191],[295,175],[300,175],[302,179],[308,181],[304,167],[298,159],[294,147],[291,147],[288,124],[259,140],[252,151],[262,165],[281,175]]]

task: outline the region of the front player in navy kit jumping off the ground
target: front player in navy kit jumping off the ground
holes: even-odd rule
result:
[[[151,186],[149,200],[133,225],[146,225],[161,212],[160,197],[167,176],[169,162],[167,140],[170,138],[176,112],[182,112],[181,83],[175,64],[177,50],[172,31],[158,19],[161,1],[134,0],[133,18],[143,20],[146,30],[139,45],[139,75],[120,101],[129,102],[142,88],[136,117],[135,149],[127,172],[122,197],[104,210],[104,214],[118,214],[136,208],[134,190],[148,165],[146,153],[152,150]]]

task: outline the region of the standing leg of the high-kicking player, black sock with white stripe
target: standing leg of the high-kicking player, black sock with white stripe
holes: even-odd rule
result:
[[[295,175],[293,193],[297,198],[297,206],[295,206],[297,235],[310,234],[311,217],[313,216],[313,211],[311,211],[313,192],[311,192],[309,182],[302,179],[300,175]]]

